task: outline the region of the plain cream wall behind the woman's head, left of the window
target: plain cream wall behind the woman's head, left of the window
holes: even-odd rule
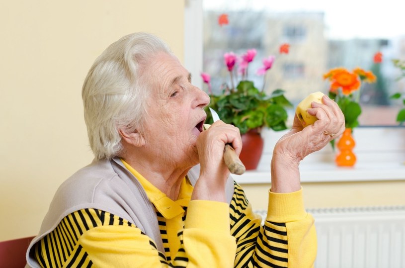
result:
[[[35,235],[59,184],[92,160],[81,85],[135,31],[183,60],[184,0],[0,2],[0,241]]]

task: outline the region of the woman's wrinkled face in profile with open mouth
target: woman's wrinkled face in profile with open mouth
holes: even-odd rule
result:
[[[166,53],[151,58],[143,74],[151,82],[143,133],[148,152],[168,165],[196,165],[209,96],[191,85],[189,72]]]

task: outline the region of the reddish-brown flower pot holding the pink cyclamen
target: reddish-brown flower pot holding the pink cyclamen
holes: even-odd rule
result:
[[[264,141],[259,130],[251,129],[242,135],[243,148],[239,158],[246,170],[255,170],[263,152]]]

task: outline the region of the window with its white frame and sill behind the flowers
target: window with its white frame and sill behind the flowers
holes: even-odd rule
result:
[[[203,3],[204,1],[204,3]],[[271,83],[266,82],[269,88],[275,88],[277,81],[280,80],[287,86],[284,88],[288,90],[290,99],[302,99],[309,92],[321,89],[321,91],[326,91],[327,87],[324,84],[322,75],[325,70],[336,66],[345,66],[347,68],[352,68],[353,65],[363,63],[367,66],[371,64],[370,53],[373,53],[376,49],[381,49],[384,55],[383,64],[380,65],[381,73],[385,75],[383,80],[385,81],[387,91],[392,92],[395,90],[405,90],[405,79],[401,81],[396,81],[397,76],[400,74],[399,71],[395,70],[391,63],[391,59],[394,58],[405,58],[405,29],[401,28],[400,23],[398,23],[398,18],[402,16],[400,8],[395,8],[395,2],[390,2],[388,0],[384,2],[385,6],[394,7],[390,10],[385,9],[381,5],[376,5],[379,8],[378,12],[373,12],[369,10],[371,6],[367,6],[367,10],[362,10],[358,6],[360,1],[345,2],[340,1],[338,5],[330,5],[324,1],[305,1],[301,3],[297,1],[295,4],[288,4],[295,6],[295,11],[301,10],[302,16],[294,15],[292,17],[299,18],[299,23],[292,23],[291,19],[287,22],[282,23],[282,16],[287,17],[287,13],[291,13],[291,10],[287,7],[281,7],[275,5],[282,4],[282,2],[271,2],[271,7],[275,8],[273,15],[276,19],[271,20],[274,22],[271,30],[266,28],[270,23],[257,22],[258,19],[263,19],[267,16],[265,13],[265,7],[263,7],[267,0],[257,1],[257,0],[235,0],[235,1],[225,1],[223,0],[186,0],[186,12],[185,12],[185,67],[190,70],[193,75],[193,84],[200,88],[204,88],[202,83],[200,73],[202,71],[210,73],[213,77],[217,77],[217,83],[219,87],[221,83],[226,80],[226,72],[222,73],[223,68],[223,53],[234,50],[235,53],[240,53],[239,51],[245,52],[245,49],[256,48],[260,50],[258,55],[256,55],[256,60],[268,56],[268,53],[275,53],[276,46],[280,42],[290,42],[294,45],[300,45],[299,54],[295,54],[294,58],[278,58],[277,65],[275,65],[270,71]],[[258,4],[261,2],[261,5]],[[243,3],[248,3],[244,4]],[[322,7],[333,7],[336,10],[344,9],[344,4],[350,6],[348,11],[357,10],[355,14],[327,14],[321,12]],[[314,12],[309,12],[307,7],[312,9]],[[242,7],[241,7],[242,6]],[[204,23],[208,23],[212,27],[217,23],[217,18],[215,16],[212,19],[206,19],[204,17],[203,7],[207,9],[209,7],[209,12],[215,11],[216,14],[221,14],[227,12],[229,14],[230,21],[233,18],[233,12],[241,11],[244,12],[254,11],[254,18],[247,20],[248,18],[243,18],[243,12],[235,12],[236,20],[244,20],[245,27],[247,24],[252,26],[254,29],[252,31],[246,31],[246,29],[241,29],[243,34],[236,34],[238,31],[235,30],[235,25],[232,27],[220,27],[220,32],[211,35],[216,36],[217,44],[222,42],[223,47],[214,47],[209,40],[213,37],[207,37],[205,31],[207,31],[207,26],[203,27]],[[214,8],[215,7],[215,8]],[[284,8],[284,10],[283,10]],[[357,9],[356,9],[357,8]],[[288,12],[281,12],[281,11]],[[271,10],[270,10],[271,11]],[[316,11],[316,12],[315,12]],[[364,11],[364,12],[362,12]],[[281,12],[281,14],[278,14]],[[341,11],[342,12],[342,11]],[[311,13],[311,14],[309,14]],[[379,14],[378,19],[376,19],[375,14]],[[206,15],[205,15],[206,16]],[[305,18],[306,17],[306,18]],[[356,19],[351,19],[351,18]],[[336,18],[339,22],[337,26],[343,26],[342,28],[337,27],[332,31],[333,19]],[[359,22],[361,20],[361,22]],[[373,22],[376,22],[374,23]],[[203,23],[204,22],[204,23]],[[284,25],[284,26],[283,26]],[[302,29],[287,30],[288,27],[300,26]],[[371,26],[373,25],[373,26]],[[266,26],[266,27],[265,27]],[[265,27],[265,28],[260,28]],[[231,30],[231,28],[233,28]],[[203,30],[204,29],[204,30]],[[348,29],[347,31],[345,29]],[[347,35],[348,32],[353,30],[353,32],[358,33],[357,35]],[[235,47],[239,40],[227,39],[226,32],[232,31],[233,38],[242,38],[243,36],[249,37],[251,43],[247,40],[243,40],[242,48]],[[289,32],[286,34],[286,32]],[[332,35],[331,33],[334,32]],[[372,36],[374,33],[379,33],[378,36]],[[260,35],[265,36],[264,39],[260,39]],[[274,40],[271,36],[278,36],[278,40]],[[289,38],[290,36],[290,38]],[[300,38],[292,38],[292,36],[300,36]],[[324,36],[328,36],[326,40]],[[287,40],[288,39],[288,40]],[[295,40],[292,40],[295,39]],[[310,45],[305,44],[306,40],[312,40]],[[315,40],[315,41],[314,41]],[[293,43],[294,41],[294,43]],[[303,44],[304,43],[304,44]],[[206,44],[209,44],[206,46]],[[269,45],[271,44],[271,45]],[[251,46],[250,46],[251,45]],[[203,47],[205,49],[203,49]],[[263,50],[264,47],[268,46],[269,51]],[[215,54],[210,54],[207,50],[213,51]],[[203,52],[204,51],[204,52]],[[261,54],[260,54],[261,53]],[[346,56],[341,56],[341,53],[346,53]],[[204,57],[203,57],[204,55]],[[327,56],[327,57],[326,57]],[[326,60],[327,58],[327,60]],[[204,60],[203,60],[204,59]],[[217,61],[213,65],[207,65],[210,61]],[[260,64],[260,63],[259,63]],[[211,66],[211,67],[209,67]],[[367,67],[364,67],[366,69]],[[277,70],[278,69],[278,70]],[[288,75],[284,76],[283,73],[288,72]],[[387,75],[388,74],[388,75]],[[288,77],[290,76],[290,77]],[[254,77],[249,77],[253,80]],[[259,80],[258,83],[260,83]],[[255,83],[256,83],[255,81]],[[305,91],[308,90],[308,91]],[[388,100],[389,104],[368,104],[372,101],[376,103],[382,99],[387,100],[387,98],[375,97],[375,93],[370,89],[367,93],[367,89],[362,89],[365,94],[362,95],[362,124],[364,127],[359,127],[355,131],[355,139],[358,144],[355,147],[355,152],[358,155],[358,164],[356,164],[356,169],[346,170],[337,169],[333,162],[334,153],[331,148],[326,146],[319,152],[312,154],[307,157],[301,168],[302,181],[356,181],[356,180],[384,180],[384,179],[403,179],[404,178],[404,153],[405,153],[405,142],[404,142],[404,131],[405,127],[398,127],[395,122],[395,115],[399,110],[401,103],[394,103]],[[380,92],[374,89],[374,92]],[[367,94],[366,94],[367,93]],[[301,94],[301,95],[300,95]],[[374,96],[373,96],[374,95]],[[377,120],[376,120],[377,119]],[[369,125],[369,126],[367,126]],[[370,126],[375,125],[375,126]],[[376,126],[377,125],[377,126]],[[394,126],[393,126],[394,125]],[[266,136],[267,141],[262,160],[260,161],[259,168],[256,172],[250,172],[243,174],[242,176],[235,176],[238,181],[245,183],[268,183],[270,172],[269,172],[269,159],[271,158],[272,148],[274,143],[283,135],[281,132],[274,132],[270,130],[264,130],[264,136]],[[377,142],[376,142],[377,141]],[[373,145],[373,146],[370,146]],[[309,164],[309,165],[307,165]],[[240,178],[239,178],[240,177]],[[315,179],[315,180],[314,180]]]

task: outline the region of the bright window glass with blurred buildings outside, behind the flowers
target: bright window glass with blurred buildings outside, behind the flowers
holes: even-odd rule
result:
[[[378,79],[375,84],[362,86],[361,125],[397,125],[395,118],[402,103],[389,96],[404,91],[405,81],[397,81],[400,72],[391,60],[405,58],[405,30],[398,22],[402,14],[393,0],[368,5],[367,10],[359,0],[342,0],[335,5],[317,0],[188,0],[187,4],[197,6],[200,13],[191,16],[186,27],[190,27],[194,37],[200,31],[199,40],[203,43],[201,55],[192,54],[193,81],[199,80],[204,71],[211,74],[213,89],[220,90],[228,75],[223,54],[242,54],[255,48],[258,53],[249,66],[248,79],[260,85],[262,77],[255,76],[254,70],[262,58],[276,55],[278,46],[287,42],[291,45],[290,54],[276,56],[267,75],[267,91],[284,89],[297,104],[311,92],[327,91],[323,74],[330,68],[361,67],[372,70]],[[222,13],[228,14],[229,25],[218,25]],[[197,21],[198,17],[202,22]],[[201,45],[194,44],[194,52],[198,46]],[[376,52],[383,53],[383,62],[378,65],[373,63]],[[196,60],[199,57],[200,63]],[[201,81],[198,86],[203,87]]]

